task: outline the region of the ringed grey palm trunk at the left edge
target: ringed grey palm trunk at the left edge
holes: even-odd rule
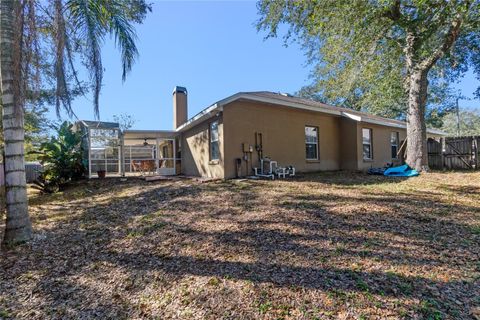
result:
[[[16,28],[18,21],[14,10],[18,5],[18,0],[0,0],[0,92],[7,213],[3,241],[6,245],[32,237],[25,181],[24,109],[20,97],[21,30]]]

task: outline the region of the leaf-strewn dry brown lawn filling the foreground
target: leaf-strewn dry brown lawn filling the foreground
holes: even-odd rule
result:
[[[0,319],[480,317],[480,172],[107,179],[30,202]]]

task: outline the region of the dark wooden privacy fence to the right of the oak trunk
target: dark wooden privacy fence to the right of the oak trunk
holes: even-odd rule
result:
[[[428,139],[428,165],[439,170],[480,169],[480,136]]]

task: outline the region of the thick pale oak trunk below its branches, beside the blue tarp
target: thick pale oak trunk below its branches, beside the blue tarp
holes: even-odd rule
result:
[[[409,77],[407,114],[407,164],[418,170],[428,170],[427,103],[428,71],[414,70]]]

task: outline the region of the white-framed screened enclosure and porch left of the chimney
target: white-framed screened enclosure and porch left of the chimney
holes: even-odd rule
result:
[[[175,175],[180,173],[176,132],[125,130],[118,123],[79,121],[88,177]]]

